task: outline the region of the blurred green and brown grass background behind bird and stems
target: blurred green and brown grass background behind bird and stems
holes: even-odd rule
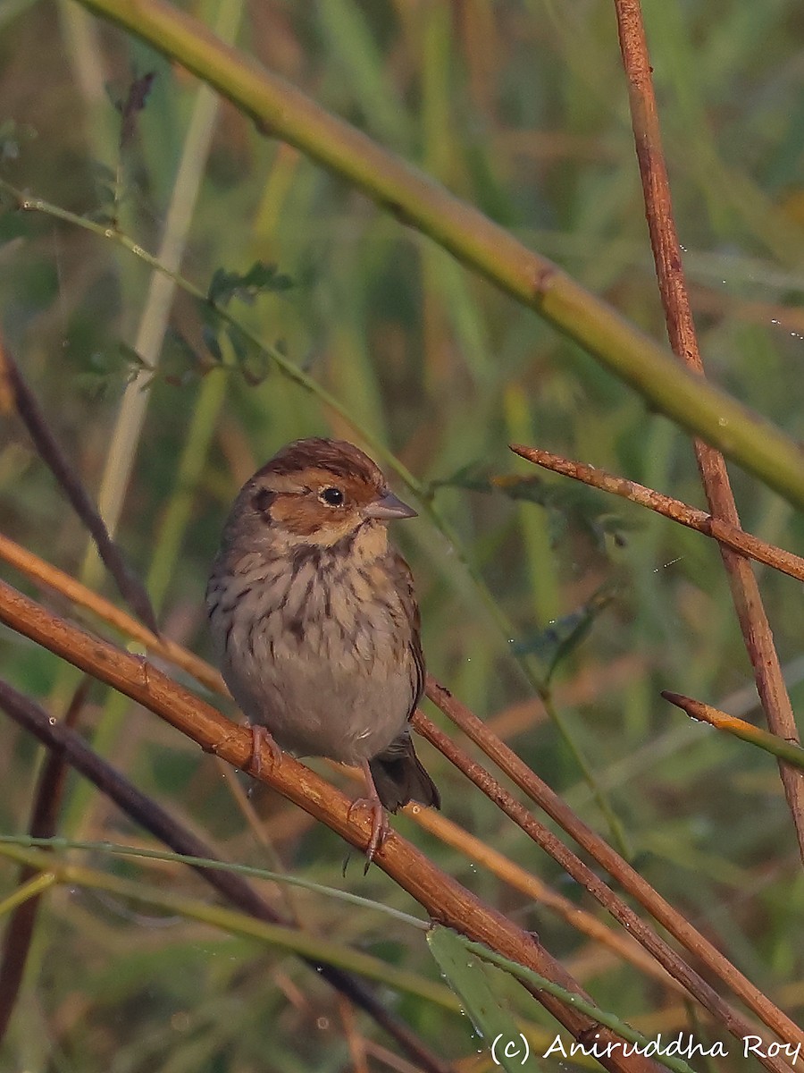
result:
[[[210,24],[221,17],[211,0],[188,6]],[[709,374],[802,439],[804,13],[791,0],[645,0],[643,8]],[[102,222],[114,212],[134,241],[157,250],[197,83],[72,4],[8,3],[0,31],[2,177]],[[244,5],[237,43],[664,338],[609,3],[264,0]],[[121,152],[114,102],[133,76],[150,71],[147,105]],[[220,104],[209,152],[196,167],[183,275],[206,290],[219,267],[245,271],[262,260],[291,276],[292,290],[238,304],[238,317],[422,482],[449,482],[470,465],[480,475],[530,475],[506,449],[516,440],[702,503],[686,435],[646,412],[532,312],[228,104]],[[55,431],[98,493],[131,371],[121,343],[135,343],[150,273],[111,241],[9,205],[0,241],[4,329]],[[354,435],[270,366],[245,378],[208,371],[210,364],[204,311],[179,294],[159,369],[147,377],[147,415],[119,525],[122,545],[149,578],[164,632],[204,655],[207,571],[240,483],[287,440]],[[732,479],[744,527],[801,549],[801,517],[740,472]],[[513,649],[613,584],[614,602],[556,673],[556,706],[592,758],[640,871],[755,983],[801,1013],[804,884],[775,764],[685,723],[658,695],[672,689],[756,714],[717,550],[601,494],[544,480],[555,485],[557,506],[441,483],[434,491],[512,623],[510,637],[441,533],[426,520],[399,527],[417,578],[429,667],[605,833]],[[86,535],[14,421],[4,422],[0,441],[0,512],[9,535],[80,573]],[[793,705],[801,706],[800,587],[760,574]],[[72,673],[5,632],[0,656],[4,677],[63,710]],[[103,751],[130,778],[228,858],[270,862],[208,758],[100,687],[85,722],[102,727]],[[2,726],[2,829],[24,831],[39,753],[11,724]],[[596,911],[490,803],[467,793],[428,747],[421,752],[448,817]],[[331,833],[267,793],[252,804],[268,818],[289,871],[339,885],[343,846]],[[635,1023],[650,1015],[661,1025],[664,1016],[668,1030],[684,1024],[658,985],[408,820],[398,822],[442,868],[537,930],[602,1006]],[[64,833],[137,838],[77,780]],[[131,865],[102,864],[132,872]],[[183,871],[164,876],[196,891]],[[3,888],[13,882],[9,869]],[[353,865],[345,883],[412,910],[377,869],[363,880]],[[284,905],[282,892],[272,896]],[[293,900],[311,929],[435,975],[418,934],[311,895],[296,892]],[[446,1057],[476,1050],[465,1021],[421,1000],[389,1001]],[[528,1016],[548,1026],[544,1013],[528,1009]],[[373,1026],[359,1025],[376,1037]],[[71,1073],[354,1064],[331,994],[296,962],[193,923],[157,926],[125,906],[65,892],[40,921],[4,1049],[8,1068]],[[745,1067],[734,1057],[724,1068]],[[384,1068],[377,1055],[370,1061]]]

